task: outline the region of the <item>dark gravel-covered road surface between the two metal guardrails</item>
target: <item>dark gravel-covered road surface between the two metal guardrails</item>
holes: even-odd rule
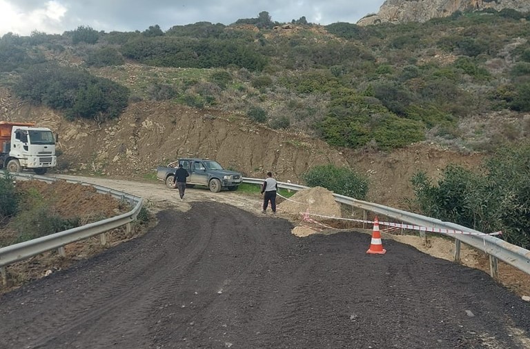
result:
[[[95,182],[157,200],[159,224],[3,295],[0,348],[530,348],[530,303],[480,270],[295,237],[233,192]]]

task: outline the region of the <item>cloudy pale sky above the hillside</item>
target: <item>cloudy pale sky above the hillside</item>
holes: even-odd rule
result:
[[[104,32],[143,32],[158,25],[164,32],[173,26],[197,22],[229,25],[256,18],[266,11],[273,21],[291,22],[306,17],[323,26],[356,23],[377,13],[384,0],[0,0],[0,37],[12,32],[63,34],[79,26]]]

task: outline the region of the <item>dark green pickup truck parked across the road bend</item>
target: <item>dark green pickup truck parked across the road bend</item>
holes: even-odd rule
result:
[[[243,175],[239,172],[225,170],[217,161],[208,159],[181,158],[169,163],[168,166],[157,167],[157,179],[164,181],[168,188],[175,188],[175,170],[182,164],[190,177],[186,186],[207,186],[212,192],[220,192],[223,188],[237,190],[242,183]]]

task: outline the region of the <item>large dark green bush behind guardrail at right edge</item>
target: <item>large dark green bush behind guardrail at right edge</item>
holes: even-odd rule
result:
[[[424,172],[411,183],[420,213],[482,232],[503,232],[502,239],[530,248],[530,143],[503,146],[480,168],[447,166],[433,184]]]

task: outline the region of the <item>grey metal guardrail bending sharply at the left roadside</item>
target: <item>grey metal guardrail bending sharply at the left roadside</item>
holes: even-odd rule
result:
[[[1,173],[0,175],[3,176],[3,174]],[[0,273],[2,277],[2,283],[4,285],[6,285],[7,283],[6,266],[12,263],[39,255],[39,253],[42,252],[47,252],[55,249],[59,250],[59,255],[65,256],[64,246],[68,245],[68,243],[87,239],[88,237],[93,237],[95,235],[101,235],[101,243],[105,245],[106,235],[104,233],[108,230],[112,230],[120,226],[126,226],[127,232],[130,234],[130,223],[132,221],[135,221],[143,205],[144,199],[142,199],[141,197],[135,197],[133,195],[129,195],[124,192],[119,192],[117,190],[112,190],[110,188],[105,188],[102,186],[83,183],[82,181],[75,181],[70,179],[57,179],[39,175],[30,175],[26,173],[12,175],[19,180],[38,179],[39,181],[46,181],[48,183],[52,183],[53,181],[57,180],[62,180],[67,181],[68,183],[90,185],[94,187],[96,189],[96,192],[98,192],[99,194],[110,194],[116,199],[128,201],[132,206],[134,206],[134,208],[133,210],[130,210],[129,212],[124,213],[123,215],[104,219],[103,221],[89,223],[85,226],[64,230],[62,232],[56,232],[55,234],[47,235],[45,237],[39,237],[37,239],[32,239],[21,243],[15,243],[14,245],[0,248]]]

